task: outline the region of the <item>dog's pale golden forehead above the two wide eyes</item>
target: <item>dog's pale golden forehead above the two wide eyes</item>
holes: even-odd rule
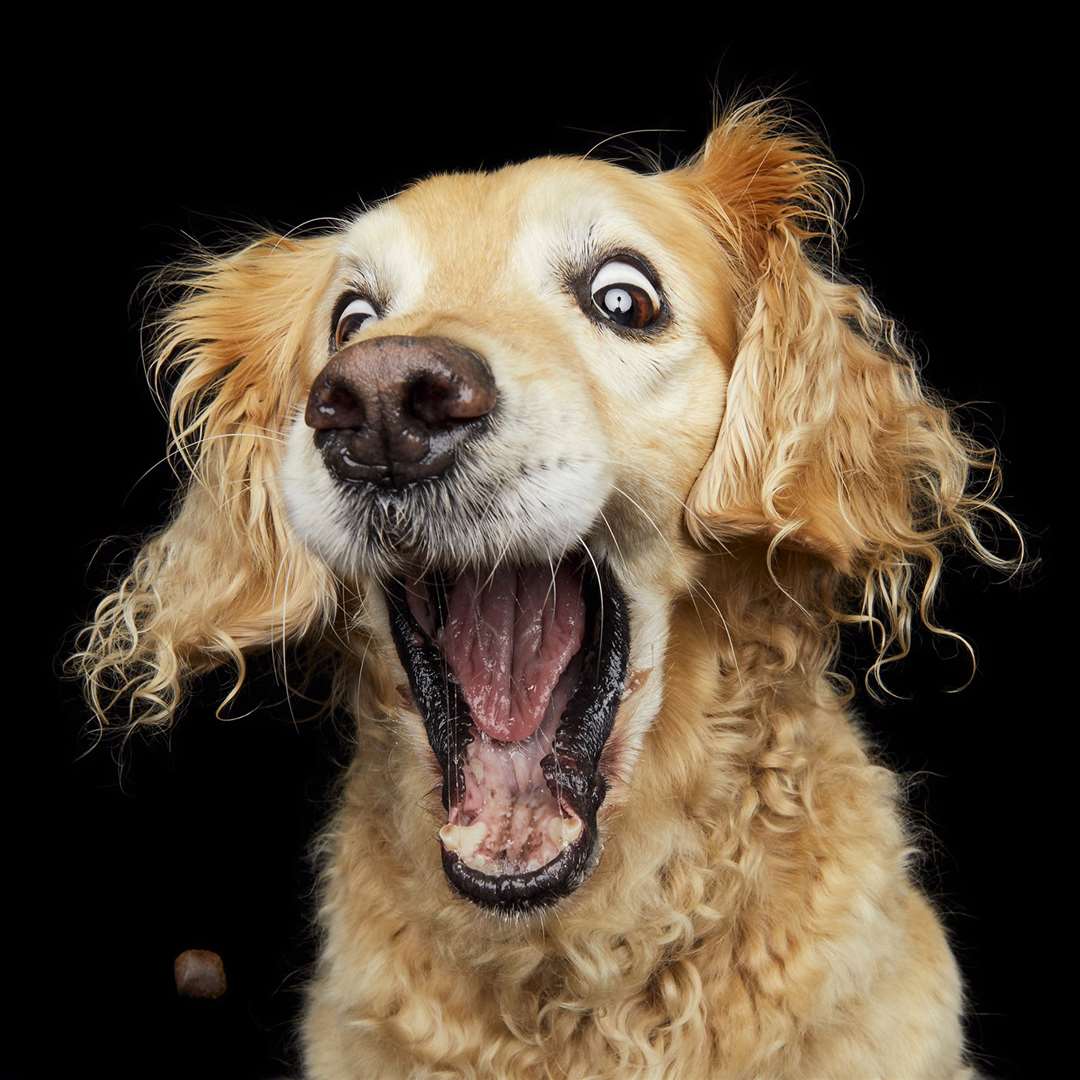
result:
[[[536,280],[605,249],[662,264],[688,243],[706,246],[706,231],[662,174],[553,157],[429,177],[356,218],[341,252],[401,284],[461,291]]]

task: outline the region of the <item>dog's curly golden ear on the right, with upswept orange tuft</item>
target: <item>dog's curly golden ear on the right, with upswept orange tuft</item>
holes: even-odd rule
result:
[[[1020,564],[976,532],[987,511],[1015,529],[994,504],[995,451],[927,390],[866,292],[808,252],[815,240],[836,249],[847,193],[811,136],[768,102],[740,106],[676,179],[724,247],[741,296],[724,417],[687,527],[706,546],[761,537],[770,566],[780,545],[812,553],[861,585],[860,613],[829,615],[870,625],[879,674],[908,650],[918,575],[923,622],[950,633],[931,613],[947,543],[995,567]],[[972,491],[976,474],[985,483]]]

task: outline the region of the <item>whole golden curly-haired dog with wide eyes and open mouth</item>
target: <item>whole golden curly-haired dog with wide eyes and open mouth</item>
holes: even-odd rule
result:
[[[667,170],[435,175],[175,270],[190,475],[77,664],[160,727],[254,650],[333,658],[308,1076],[973,1075],[832,665],[948,633],[999,474],[829,269],[845,192],[754,100]]]

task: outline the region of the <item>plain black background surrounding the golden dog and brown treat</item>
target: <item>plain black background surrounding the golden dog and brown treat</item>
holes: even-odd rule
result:
[[[603,30],[617,14],[583,11],[528,49],[519,28],[488,26],[494,39],[471,48],[432,32],[421,46],[359,17],[273,42],[206,33],[167,57],[160,41],[103,51],[76,32],[53,53],[48,93],[16,103],[30,183],[26,219],[9,224],[25,229],[33,273],[9,312],[30,321],[13,363],[28,377],[12,405],[26,428],[9,462],[29,477],[9,526],[28,596],[10,677],[31,702],[13,706],[8,757],[8,971],[26,1007],[4,1066],[15,1075],[295,1069],[314,948],[308,845],[350,752],[348,725],[307,721],[312,706],[291,708],[264,662],[227,723],[214,717],[226,684],[210,680],[170,737],[80,756],[86,715],[59,662],[173,486],[140,368],[144,274],[187,237],[288,228],[429,172],[580,154],[632,129],[665,131],[604,156],[638,145],[671,163],[704,137],[714,83],[725,97],[783,84],[824,130],[855,192],[843,268],[998,443],[1003,504],[1040,561],[1009,583],[953,565],[942,615],[976,647],[967,689],[949,692],[968,676],[963,656],[923,642],[892,676],[904,699],[858,702],[914,780],[921,875],[968,980],[973,1047],[990,1075],[1034,1075],[1025,1025],[1065,944],[1049,929],[1061,875],[1047,850],[1062,786],[1049,778],[1067,768],[1055,687],[1069,661],[1050,625],[1066,603],[1052,524],[1071,484],[1061,447],[1075,351],[1054,329],[1070,307],[1049,262],[1070,227],[1048,113],[1054,64],[1032,63],[1013,31],[841,40],[717,22],[642,25],[617,42]],[[848,644],[850,667],[865,649]],[[191,946],[225,958],[222,1000],[177,1000],[173,958]]]

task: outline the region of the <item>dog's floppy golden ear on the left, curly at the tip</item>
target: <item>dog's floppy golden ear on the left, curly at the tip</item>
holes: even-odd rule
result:
[[[151,374],[175,379],[171,450],[189,475],[73,658],[102,723],[119,699],[132,723],[167,723],[187,676],[226,661],[234,693],[243,650],[330,618],[332,581],[291,541],[276,481],[329,254],[326,238],[267,235],[167,274],[180,298],[158,325]]]

